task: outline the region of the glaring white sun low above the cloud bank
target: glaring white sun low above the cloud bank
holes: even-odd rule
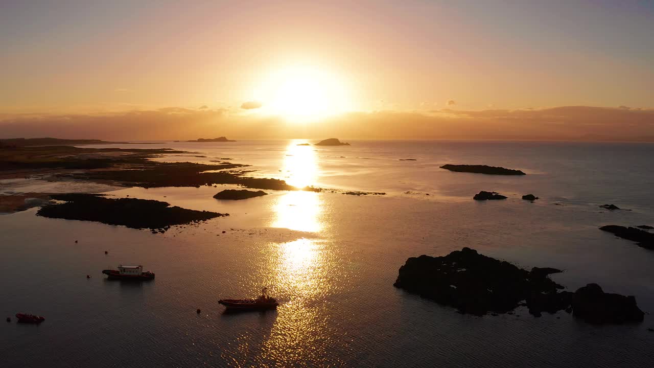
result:
[[[313,65],[292,65],[273,71],[255,91],[262,112],[292,122],[309,122],[352,109],[347,81]]]

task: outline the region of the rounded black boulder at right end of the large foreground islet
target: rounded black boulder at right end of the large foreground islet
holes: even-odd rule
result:
[[[597,284],[580,287],[572,297],[573,315],[589,323],[641,322],[644,313],[633,296],[604,293]]]

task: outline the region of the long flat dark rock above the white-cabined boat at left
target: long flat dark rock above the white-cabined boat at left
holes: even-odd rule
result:
[[[52,199],[65,203],[41,208],[37,215],[56,219],[97,221],[108,225],[124,225],[133,229],[147,228],[152,232],[166,225],[181,225],[192,221],[213,219],[223,213],[170,207],[167,202],[137,198],[105,198],[102,194],[52,194]],[[162,229],[163,232],[163,229]]]

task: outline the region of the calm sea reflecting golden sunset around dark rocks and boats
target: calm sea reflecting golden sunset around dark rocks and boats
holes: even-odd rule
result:
[[[192,153],[155,160],[249,164],[248,175],[324,190],[225,201],[213,195],[233,186],[102,187],[111,198],[230,213],[164,234],[38,217],[37,208],[0,215],[0,317],[12,317],[0,325],[0,367],[654,367],[654,251],[598,230],[654,226],[654,144],[300,143],[315,140],[84,146],[181,149]],[[58,190],[22,180],[0,186]],[[84,187],[76,185],[60,191]],[[473,200],[479,191],[508,199]],[[535,318],[524,307],[477,317],[393,286],[407,258],[464,247],[523,268],[560,268],[551,278],[568,290],[594,282],[634,295],[649,313],[626,325],[589,325],[566,312]],[[101,274],[121,263],[156,279]],[[226,314],[218,304],[263,287],[277,310]],[[46,320],[19,324],[17,312]]]

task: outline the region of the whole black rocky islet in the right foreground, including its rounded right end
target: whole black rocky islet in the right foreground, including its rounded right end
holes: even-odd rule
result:
[[[421,255],[407,259],[400,267],[394,286],[463,314],[504,314],[527,306],[533,316],[560,310],[572,312],[589,323],[641,322],[644,312],[633,296],[604,293],[597,284],[576,292],[560,291],[562,285],[548,275],[556,268],[523,270],[463,248],[442,257]]]

